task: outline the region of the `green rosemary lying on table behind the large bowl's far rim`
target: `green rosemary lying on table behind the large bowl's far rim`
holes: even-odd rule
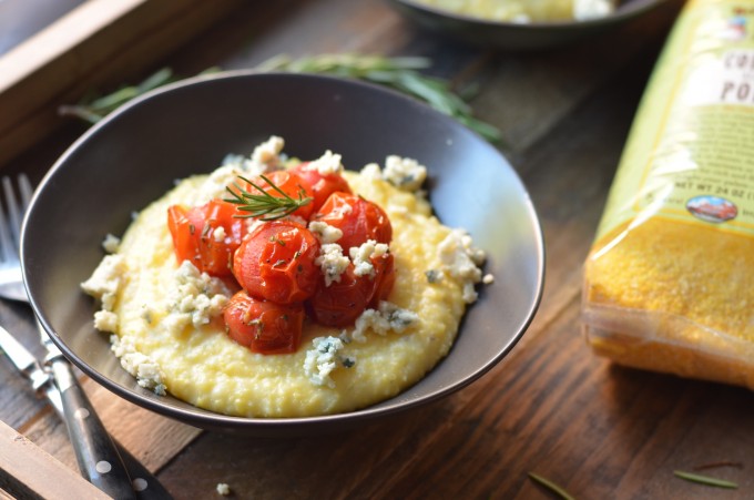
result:
[[[455,118],[469,129],[491,142],[500,141],[500,131],[472,115],[471,106],[456,94],[450,84],[439,78],[420,73],[431,65],[427,58],[385,58],[361,54],[323,54],[292,59],[288,55],[274,57],[254,70],[258,72],[291,72],[330,74],[350,78],[391,88],[414,96],[435,110]],[[212,68],[204,73],[215,72]],[[85,99],[77,105],[61,106],[63,115],[77,116],[96,123],[118,106],[152,89],[179,80],[169,68],[162,69],[137,85],[123,86],[118,91],[96,99]]]

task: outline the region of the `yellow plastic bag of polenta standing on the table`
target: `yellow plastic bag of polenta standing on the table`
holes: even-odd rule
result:
[[[754,0],[690,0],[585,262],[589,344],[754,389]]]

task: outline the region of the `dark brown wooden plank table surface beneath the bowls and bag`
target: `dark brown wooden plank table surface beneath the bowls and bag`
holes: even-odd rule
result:
[[[156,418],[84,380],[109,429],[179,499],[547,499],[536,472],[579,499],[754,499],[754,394],[613,366],[580,328],[582,264],[646,79],[681,3],[567,47],[513,52],[417,29],[381,0],[249,2],[163,61],[181,74],[328,52],[422,55],[429,73],[476,83],[476,114],[528,186],[547,245],[538,314],[514,349],[429,406],[327,436],[261,439]],[[133,75],[137,81],[143,75]],[[69,122],[3,167],[39,180],[82,132]],[[0,324],[41,354],[28,308]],[[0,419],[75,469],[65,430],[0,363]],[[723,490],[673,471],[738,483]]]

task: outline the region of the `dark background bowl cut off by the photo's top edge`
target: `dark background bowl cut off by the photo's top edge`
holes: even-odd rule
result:
[[[548,49],[603,32],[648,12],[664,0],[619,0],[615,10],[599,19],[560,22],[500,22],[429,7],[412,0],[389,0],[418,25],[476,45],[507,50]]]

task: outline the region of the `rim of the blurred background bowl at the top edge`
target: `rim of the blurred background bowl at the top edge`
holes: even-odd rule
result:
[[[624,0],[619,3],[619,6],[607,16],[592,19],[582,20],[566,20],[566,21],[533,21],[533,22],[506,22],[506,21],[495,21],[490,19],[485,19],[481,17],[475,17],[469,14],[462,14],[454,12],[448,9],[442,9],[435,6],[428,6],[426,3],[418,2],[416,0],[391,0],[396,3],[401,3],[410,9],[416,9],[419,11],[427,12],[431,16],[439,18],[452,19],[458,22],[476,24],[485,28],[500,28],[509,30],[520,30],[520,31],[532,31],[532,30],[581,30],[583,28],[602,25],[605,23],[612,23],[617,21],[622,21],[628,18],[640,14],[641,12],[649,10],[666,0]]]

